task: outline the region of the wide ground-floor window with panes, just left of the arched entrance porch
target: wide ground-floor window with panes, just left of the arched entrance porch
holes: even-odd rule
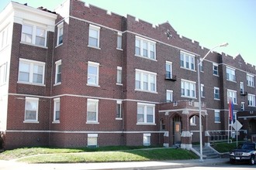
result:
[[[154,104],[137,104],[137,124],[154,124]]]

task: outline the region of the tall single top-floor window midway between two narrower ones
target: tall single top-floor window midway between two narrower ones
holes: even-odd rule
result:
[[[89,26],[89,42],[88,46],[99,48],[99,26]]]

